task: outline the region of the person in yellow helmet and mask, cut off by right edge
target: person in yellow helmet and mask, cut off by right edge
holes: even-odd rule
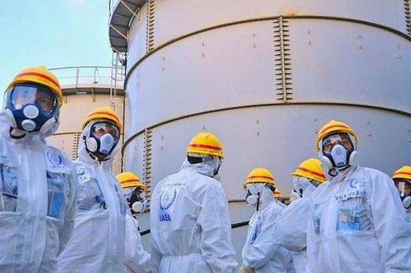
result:
[[[392,176],[400,194],[401,202],[407,213],[407,220],[411,222],[411,166],[402,166]]]

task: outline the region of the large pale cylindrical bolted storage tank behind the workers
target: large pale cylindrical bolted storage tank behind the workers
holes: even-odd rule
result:
[[[125,169],[148,188],[179,170],[198,131],[222,140],[232,222],[252,213],[237,202],[248,171],[269,168],[289,194],[330,119],[358,133],[363,166],[410,164],[409,0],[114,2],[111,46],[127,52]],[[239,254],[245,227],[233,234]]]

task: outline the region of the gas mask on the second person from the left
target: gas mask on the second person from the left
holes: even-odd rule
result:
[[[98,121],[91,125],[89,137],[85,138],[85,144],[88,152],[102,160],[113,152],[119,139],[120,131],[117,126],[109,121]]]

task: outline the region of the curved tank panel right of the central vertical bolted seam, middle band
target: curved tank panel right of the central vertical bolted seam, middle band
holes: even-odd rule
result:
[[[411,111],[410,40],[338,20],[288,20],[293,101],[342,102]]]

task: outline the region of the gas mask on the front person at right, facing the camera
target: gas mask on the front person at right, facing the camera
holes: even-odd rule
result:
[[[324,171],[336,176],[339,171],[358,164],[358,152],[348,133],[328,135],[320,142],[320,161]]]

